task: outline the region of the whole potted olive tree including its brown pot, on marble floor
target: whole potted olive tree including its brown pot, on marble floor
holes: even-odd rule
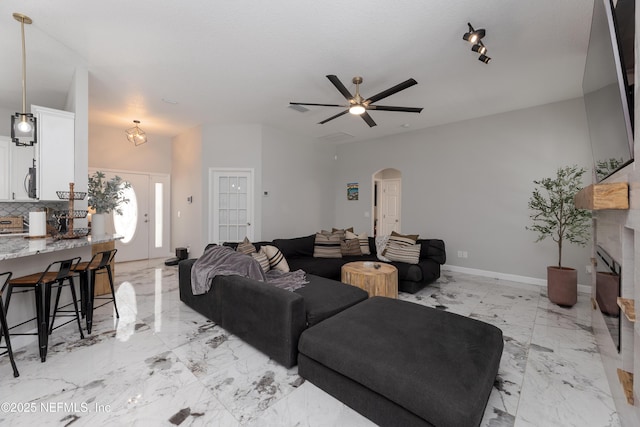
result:
[[[572,306],[578,298],[578,272],[562,265],[563,245],[585,246],[591,237],[591,212],[578,209],[573,199],[582,187],[586,169],[577,165],[559,168],[555,178],[533,181],[536,188],[529,199],[536,242],[551,238],[558,245],[558,265],[547,267],[547,293],[555,304]]]

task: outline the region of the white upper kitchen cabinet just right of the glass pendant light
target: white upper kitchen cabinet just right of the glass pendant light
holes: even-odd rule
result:
[[[37,118],[37,190],[40,200],[59,200],[56,191],[68,191],[74,182],[75,115],[68,111],[31,106]]]

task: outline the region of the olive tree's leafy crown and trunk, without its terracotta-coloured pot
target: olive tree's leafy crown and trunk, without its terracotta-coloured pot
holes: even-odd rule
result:
[[[558,244],[559,268],[565,241],[585,246],[591,237],[591,212],[578,209],[573,203],[585,172],[577,165],[566,166],[558,169],[555,178],[533,181],[537,185],[529,199],[533,225],[526,228],[538,233],[536,242],[551,238]]]

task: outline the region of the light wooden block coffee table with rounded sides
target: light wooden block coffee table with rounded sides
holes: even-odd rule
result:
[[[374,265],[380,267],[366,267],[364,261],[343,265],[342,283],[364,289],[369,293],[369,297],[398,298],[398,270],[385,263],[374,262]]]

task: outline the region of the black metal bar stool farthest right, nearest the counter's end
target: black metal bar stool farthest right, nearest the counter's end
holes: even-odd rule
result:
[[[82,293],[82,311],[86,316],[87,321],[87,333],[91,333],[91,327],[93,326],[93,309],[102,307],[113,301],[113,308],[116,310],[116,318],[120,318],[118,313],[118,305],[116,304],[116,293],[113,286],[113,273],[111,271],[111,262],[116,256],[117,249],[111,249],[108,251],[96,252],[91,257],[89,262],[81,262],[74,267],[76,273],[80,275],[80,289]],[[96,273],[99,271],[106,271],[109,276],[109,287],[111,287],[111,297],[96,297],[94,296],[96,287]],[[94,306],[94,300],[101,299],[107,300],[99,306]]]

